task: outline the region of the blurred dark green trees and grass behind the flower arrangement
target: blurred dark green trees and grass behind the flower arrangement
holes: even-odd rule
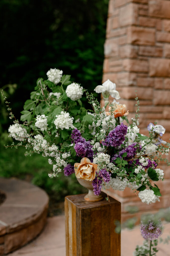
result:
[[[103,45],[109,0],[1,0],[1,80],[8,101],[20,120],[24,102],[30,98],[38,77],[47,79],[50,68],[71,74],[72,81],[93,92],[101,84]],[[85,100],[84,100],[85,103]],[[89,106],[88,106],[89,107]],[[29,180],[55,200],[83,192],[75,177],[49,179],[51,165],[38,154],[25,158],[23,148],[5,150],[12,121],[5,105],[0,111],[0,176]]]

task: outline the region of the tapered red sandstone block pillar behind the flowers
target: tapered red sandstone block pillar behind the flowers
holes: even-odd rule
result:
[[[140,102],[140,132],[157,122],[166,128],[163,139],[170,137],[170,1],[110,0],[106,42],[104,45],[103,82],[110,79],[126,104],[129,119],[135,115],[135,91]],[[140,213],[170,206],[170,171],[164,162],[165,180],[159,182],[163,197],[152,205],[143,204],[130,188],[111,191],[122,202],[123,218],[130,217],[126,206],[139,207]]]

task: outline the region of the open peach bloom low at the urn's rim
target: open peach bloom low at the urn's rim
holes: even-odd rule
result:
[[[80,179],[94,180],[98,165],[91,163],[87,157],[83,157],[80,163],[74,164],[75,176]]]

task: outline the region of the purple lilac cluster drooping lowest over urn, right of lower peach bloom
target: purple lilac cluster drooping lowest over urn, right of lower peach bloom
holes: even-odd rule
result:
[[[97,173],[97,176],[92,181],[93,192],[96,196],[100,195],[101,188],[102,188],[102,180],[104,182],[109,183],[110,176],[111,176],[111,173],[109,173],[106,169],[99,170],[99,172]]]

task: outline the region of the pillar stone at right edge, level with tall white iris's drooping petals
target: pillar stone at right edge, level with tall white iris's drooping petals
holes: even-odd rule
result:
[[[154,102],[154,105],[169,105],[170,91],[154,90],[153,102]]]

